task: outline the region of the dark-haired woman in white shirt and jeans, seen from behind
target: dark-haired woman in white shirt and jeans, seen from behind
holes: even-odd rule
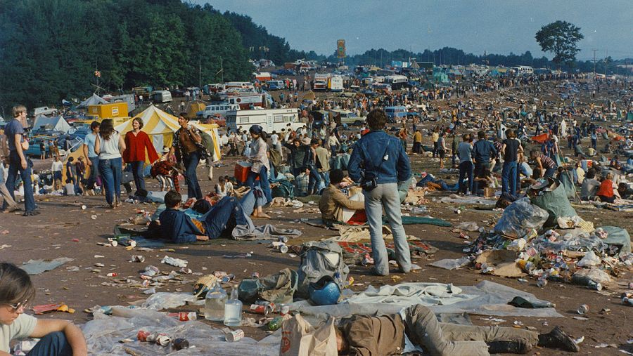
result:
[[[104,119],[99,126],[99,134],[94,143],[94,152],[99,155],[99,175],[106,189],[106,202],[110,208],[121,205],[121,152],[125,142],[115,131],[112,119]]]

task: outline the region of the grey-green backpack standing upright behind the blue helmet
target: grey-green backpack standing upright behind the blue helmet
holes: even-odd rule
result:
[[[309,298],[310,283],[330,276],[343,289],[350,268],[343,261],[343,249],[333,241],[306,242],[302,245],[297,296]]]

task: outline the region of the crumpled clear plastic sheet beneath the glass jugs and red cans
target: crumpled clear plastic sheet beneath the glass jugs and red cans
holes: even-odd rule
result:
[[[115,316],[119,315],[119,316]],[[175,351],[154,343],[139,342],[139,330],[161,332],[174,338],[186,338],[190,348]],[[235,343],[224,340],[224,331],[196,320],[179,322],[164,313],[146,309],[113,307],[113,316],[98,312],[94,320],[82,328],[91,355],[129,355],[131,350],[139,355],[226,355],[226,356],[276,356],[279,355],[279,338],[265,338],[259,343],[252,338],[242,338]],[[129,338],[130,343],[119,343]]]

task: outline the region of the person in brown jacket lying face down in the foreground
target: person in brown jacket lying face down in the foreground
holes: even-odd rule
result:
[[[335,328],[339,355],[478,356],[527,353],[535,346],[578,352],[578,345],[561,329],[547,334],[511,327],[478,327],[440,323],[433,311],[411,305],[397,314],[358,315]]]

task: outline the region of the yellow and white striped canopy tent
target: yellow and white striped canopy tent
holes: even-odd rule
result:
[[[152,140],[152,143],[156,149],[156,152],[162,152],[162,147],[172,147],[174,141],[174,132],[178,130],[180,125],[178,124],[178,118],[172,114],[167,114],[158,107],[150,105],[145,111],[136,115],[134,118],[140,118],[143,120],[143,128],[141,131],[147,133]],[[129,119],[122,124],[115,126],[115,130],[123,136],[128,131],[132,131],[132,119]],[[196,128],[208,133],[211,136],[215,150],[213,150],[213,161],[220,159],[217,125],[201,125],[197,122],[191,122]]]

